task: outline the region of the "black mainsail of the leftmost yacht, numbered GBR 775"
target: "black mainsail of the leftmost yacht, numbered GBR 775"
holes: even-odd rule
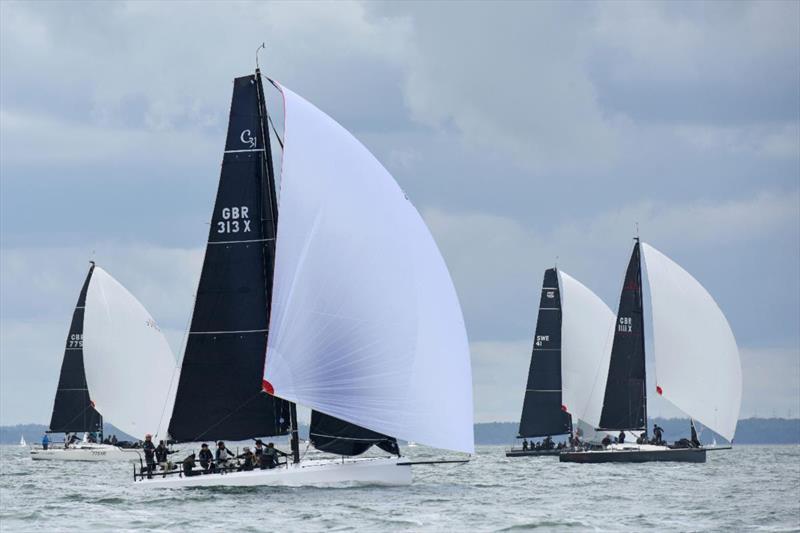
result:
[[[86,372],[83,367],[83,316],[86,305],[86,292],[94,272],[94,262],[86,274],[78,303],[72,313],[72,324],[64,348],[61,375],[58,378],[53,415],[50,417],[50,432],[72,433],[82,431],[102,431],[103,417],[100,416],[89,397],[86,385]]]

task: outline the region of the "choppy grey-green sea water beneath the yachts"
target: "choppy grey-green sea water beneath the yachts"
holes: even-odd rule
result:
[[[33,462],[4,446],[0,530],[800,531],[798,446],[740,446],[702,465],[560,464],[503,452],[485,446],[467,465],[414,467],[403,488],[145,492],[127,464]]]

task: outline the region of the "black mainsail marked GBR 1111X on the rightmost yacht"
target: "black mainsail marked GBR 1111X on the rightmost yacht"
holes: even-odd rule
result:
[[[598,429],[647,430],[644,357],[642,262],[637,238],[619,297],[617,327]]]

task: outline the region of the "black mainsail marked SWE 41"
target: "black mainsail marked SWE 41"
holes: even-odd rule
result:
[[[519,437],[562,435],[572,431],[561,402],[561,295],[555,268],[544,271],[536,337],[522,405]]]

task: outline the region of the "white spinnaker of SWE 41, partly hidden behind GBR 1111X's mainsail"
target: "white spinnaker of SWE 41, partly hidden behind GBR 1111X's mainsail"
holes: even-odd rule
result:
[[[574,419],[600,425],[616,317],[595,293],[558,271],[562,400]]]

